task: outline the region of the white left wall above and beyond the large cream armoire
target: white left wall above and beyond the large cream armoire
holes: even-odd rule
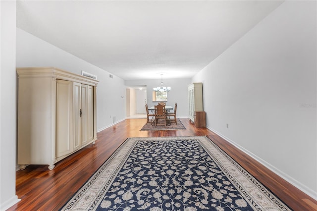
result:
[[[16,28],[16,67],[52,66],[69,72],[97,75],[97,131],[126,117],[126,87],[121,78]],[[121,98],[123,96],[123,98]]]

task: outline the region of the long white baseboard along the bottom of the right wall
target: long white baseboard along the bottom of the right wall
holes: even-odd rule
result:
[[[207,126],[207,128],[209,130],[211,130],[212,132],[214,132],[215,134],[217,134],[218,136],[220,136],[221,138],[225,139],[227,142],[231,143],[232,145],[234,145],[236,148],[238,148],[239,150],[243,151],[244,153],[248,154],[250,157],[254,158],[255,160],[257,160],[258,162],[260,162],[261,164],[263,164],[266,168],[268,168],[269,170],[273,171],[275,174],[277,174],[278,176],[280,176],[281,178],[283,178],[284,180],[286,180],[287,182],[291,183],[292,185],[294,185],[296,188],[298,188],[299,190],[303,191],[304,193],[306,193],[307,195],[309,195],[310,197],[312,197],[313,199],[317,200],[317,192],[315,192],[314,190],[312,190],[311,188],[307,187],[306,185],[304,185],[303,183],[297,181],[296,179],[294,179],[293,177],[289,176],[288,174],[286,174],[285,172],[279,170],[278,168],[274,167],[273,165],[271,165],[270,163],[266,162],[264,159],[259,158],[258,156],[254,155],[253,153],[251,153],[250,151],[244,149],[243,147],[241,147],[240,145],[238,145],[237,143],[235,143],[234,141],[230,140],[229,138],[225,137],[224,135],[222,135],[221,133],[217,132],[216,130],[210,128]]]

